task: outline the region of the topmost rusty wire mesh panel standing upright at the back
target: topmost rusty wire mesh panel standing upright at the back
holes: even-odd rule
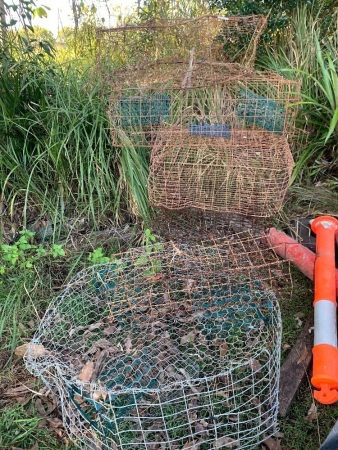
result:
[[[147,62],[189,58],[252,65],[267,17],[204,15],[194,19],[125,25],[97,32],[98,65],[135,66]]]

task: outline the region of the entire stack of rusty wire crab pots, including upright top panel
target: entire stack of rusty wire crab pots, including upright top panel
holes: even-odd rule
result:
[[[252,217],[281,209],[300,85],[253,69],[266,21],[206,15],[99,30],[100,64],[119,61],[112,143],[151,155],[153,206]]]

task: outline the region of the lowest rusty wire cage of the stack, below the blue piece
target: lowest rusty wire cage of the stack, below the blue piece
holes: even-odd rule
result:
[[[166,209],[269,217],[282,207],[292,167],[284,136],[238,131],[223,138],[163,130],[154,142],[149,198]]]

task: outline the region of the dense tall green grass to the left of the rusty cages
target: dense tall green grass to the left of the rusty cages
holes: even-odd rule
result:
[[[7,205],[24,203],[54,222],[103,215],[147,218],[144,150],[114,148],[107,98],[90,69],[12,62],[0,75],[0,185]]]

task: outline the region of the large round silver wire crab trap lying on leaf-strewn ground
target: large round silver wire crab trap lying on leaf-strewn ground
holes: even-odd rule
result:
[[[276,432],[279,262],[252,236],[80,272],[26,355],[90,449],[253,449]]]

